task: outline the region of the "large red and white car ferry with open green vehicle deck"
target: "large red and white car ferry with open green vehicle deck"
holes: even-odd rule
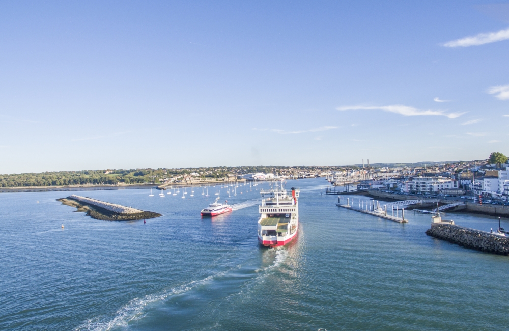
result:
[[[258,241],[267,247],[283,246],[292,241],[299,230],[300,190],[292,187],[292,195],[286,189],[261,190],[259,206]]]

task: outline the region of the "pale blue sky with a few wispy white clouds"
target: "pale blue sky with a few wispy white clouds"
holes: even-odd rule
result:
[[[0,2],[0,173],[509,154],[509,2]]]

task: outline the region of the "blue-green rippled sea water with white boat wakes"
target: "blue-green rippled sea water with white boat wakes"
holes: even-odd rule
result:
[[[212,219],[199,211],[218,187],[208,199],[201,188],[186,199],[182,189],[164,198],[78,192],[163,214],[147,224],[95,220],[55,201],[70,192],[0,194],[0,329],[508,328],[509,257],[426,236],[430,215],[407,212],[410,222],[398,224],[338,208],[337,197],[320,195],[326,183],[288,182],[301,187],[299,236],[277,249],[258,244],[254,187]]]

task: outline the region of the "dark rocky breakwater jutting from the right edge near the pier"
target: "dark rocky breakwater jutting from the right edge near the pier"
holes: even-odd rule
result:
[[[509,255],[509,238],[457,225],[433,225],[426,234],[470,249]]]

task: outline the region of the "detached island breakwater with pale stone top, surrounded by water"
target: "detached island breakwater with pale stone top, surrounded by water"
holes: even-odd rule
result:
[[[161,214],[152,211],[139,210],[76,195],[58,199],[58,201],[62,202],[64,205],[76,207],[78,212],[86,212],[87,215],[95,219],[138,220],[161,216]]]

